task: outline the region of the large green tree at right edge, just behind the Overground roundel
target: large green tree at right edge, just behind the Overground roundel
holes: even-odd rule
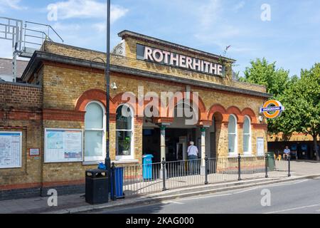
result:
[[[320,160],[316,143],[320,135],[320,63],[316,63],[310,70],[302,70],[300,79],[294,79],[290,84],[279,95],[285,107],[284,115],[274,120],[274,123],[284,132],[296,131],[311,135],[316,160]]]

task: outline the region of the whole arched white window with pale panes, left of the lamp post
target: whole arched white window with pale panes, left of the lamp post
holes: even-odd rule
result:
[[[85,107],[85,161],[105,159],[105,108],[92,101]]]

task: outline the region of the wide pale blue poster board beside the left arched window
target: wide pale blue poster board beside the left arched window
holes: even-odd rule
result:
[[[45,130],[45,162],[82,162],[82,130]]]

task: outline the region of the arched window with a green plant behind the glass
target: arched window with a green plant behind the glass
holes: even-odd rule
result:
[[[133,111],[128,105],[117,108],[116,117],[116,159],[132,159],[133,153]]]

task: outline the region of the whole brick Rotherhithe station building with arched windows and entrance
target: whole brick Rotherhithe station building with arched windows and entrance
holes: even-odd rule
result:
[[[112,162],[141,164],[144,154],[184,160],[191,140],[199,157],[265,155],[259,108],[270,94],[233,80],[235,60],[132,31],[118,35],[110,54]],[[84,192],[85,170],[105,159],[104,61],[105,53],[45,41],[20,82],[0,82],[0,199],[50,188]],[[164,103],[161,92],[177,95]],[[144,115],[146,108],[159,115]],[[176,115],[181,108],[196,121],[186,124],[190,116]]]

